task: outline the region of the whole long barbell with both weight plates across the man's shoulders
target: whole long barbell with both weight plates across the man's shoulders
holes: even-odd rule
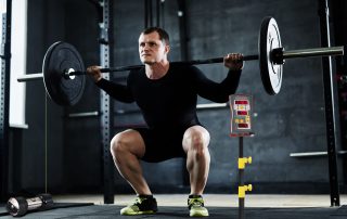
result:
[[[259,60],[261,81],[270,95],[280,92],[283,64],[287,59],[344,55],[344,47],[313,48],[285,51],[281,43],[279,26],[275,20],[267,16],[262,20],[258,37],[258,54],[244,55],[243,61]],[[189,65],[222,63],[223,57],[171,62]],[[139,69],[144,65],[101,68],[102,73]],[[83,61],[76,48],[67,42],[53,43],[44,54],[42,73],[29,74],[17,81],[30,81],[43,78],[49,96],[60,105],[76,104],[85,90],[87,75]]]

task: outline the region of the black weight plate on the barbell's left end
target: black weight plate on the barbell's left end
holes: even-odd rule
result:
[[[83,75],[74,78],[64,77],[64,72],[70,68],[85,72],[79,52],[67,42],[53,43],[46,52],[42,73],[46,91],[56,104],[74,105],[85,91]]]

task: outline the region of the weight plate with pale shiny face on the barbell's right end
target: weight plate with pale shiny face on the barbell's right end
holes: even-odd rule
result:
[[[283,64],[275,64],[271,60],[272,50],[282,48],[279,26],[273,17],[268,16],[262,20],[258,47],[264,88],[270,95],[275,95],[282,86]]]

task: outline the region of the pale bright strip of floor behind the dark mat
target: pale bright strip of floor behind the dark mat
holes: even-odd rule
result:
[[[155,194],[158,206],[185,207],[185,194]],[[102,195],[56,195],[54,202],[59,203],[103,203]],[[134,195],[115,195],[115,205],[126,206],[132,203]],[[205,194],[205,205],[211,207],[236,207],[237,195]],[[347,195],[340,195],[340,204],[347,205]],[[329,207],[330,195],[252,195],[247,194],[246,207]]]

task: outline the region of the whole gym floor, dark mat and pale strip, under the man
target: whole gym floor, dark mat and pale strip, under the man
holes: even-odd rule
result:
[[[114,205],[102,205],[102,195],[55,195],[56,209],[29,211],[25,218],[130,218],[119,216],[119,209],[133,201],[133,195],[115,195]],[[185,194],[155,195],[158,214],[131,218],[189,218]],[[237,195],[205,194],[210,218],[237,218]],[[85,204],[90,204],[83,206]],[[330,207],[330,195],[252,195],[245,199],[247,219],[342,219],[347,218],[347,195],[340,195],[340,206]],[[66,205],[67,204],[67,205]],[[67,207],[68,205],[77,205]],[[81,206],[78,206],[81,205]],[[60,207],[61,206],[61,207]],[[0,208],[1,219],[12,218]]]

